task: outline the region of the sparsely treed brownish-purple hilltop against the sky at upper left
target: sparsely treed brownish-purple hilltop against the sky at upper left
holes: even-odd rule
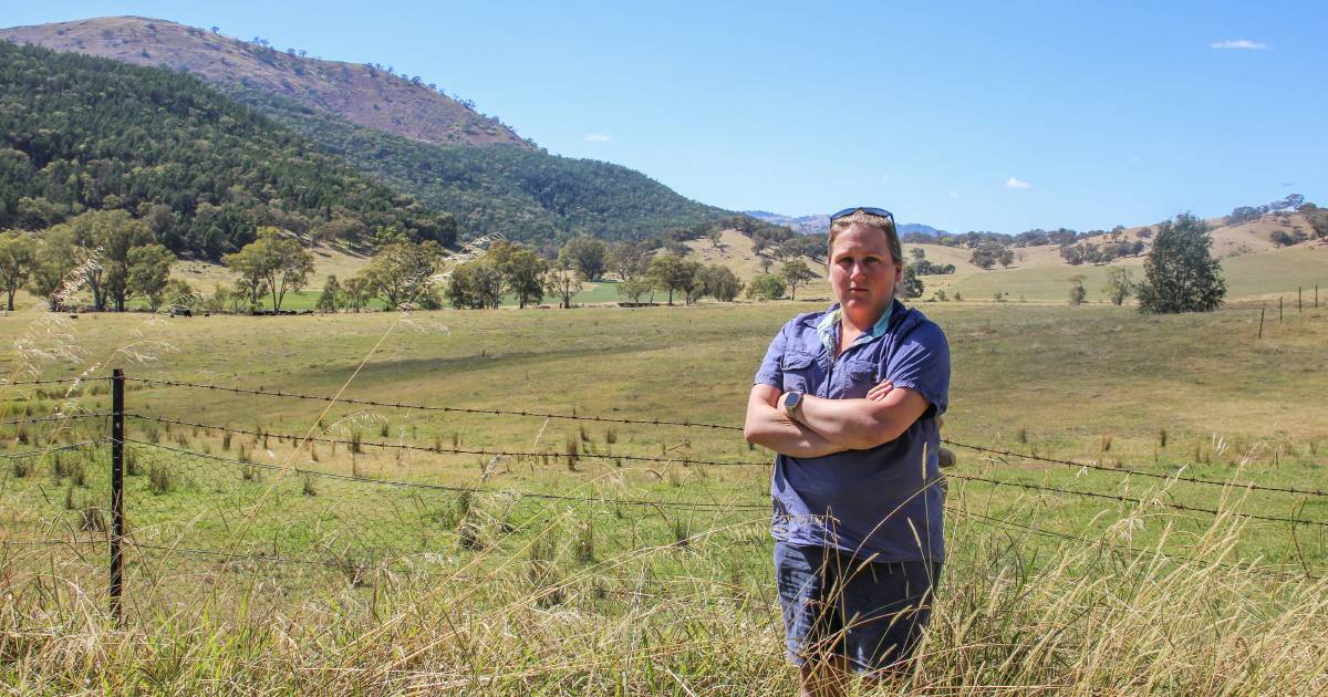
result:
[[[494,117],[386,65],[311,58],[262,37],[240,41],[218,31],[146,17],[96,17],[0,29],[0,39],[73,50],[150,68],[187,70],[218,85],[282,94],[355,123],[406,138],[530,147]]]

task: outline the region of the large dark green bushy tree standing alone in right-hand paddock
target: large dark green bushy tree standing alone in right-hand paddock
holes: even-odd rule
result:
[[[1141,312],[1210,312],[1227,293],[1203,220],[1183,212],[1158,224],[1138,287]]]

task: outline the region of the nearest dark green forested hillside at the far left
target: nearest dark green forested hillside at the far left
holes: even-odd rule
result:
[[[260,224],[365,239],[456,220],[373,182],[197,77],[0,41],[0,228],[89,208],[143,218],[177,254],[218,259]]]

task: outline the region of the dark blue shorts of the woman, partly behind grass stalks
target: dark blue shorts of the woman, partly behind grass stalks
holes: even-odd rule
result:
[[[940,563],[861,562],[776,540],[774,574],[789,661],[838,655],[855,672],[875,672],[912,656]]]

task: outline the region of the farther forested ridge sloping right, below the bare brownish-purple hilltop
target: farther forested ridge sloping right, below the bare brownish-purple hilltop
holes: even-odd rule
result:
[[[645,239],[730,215],[608,162],[543,150],[424,143],[259,90],[230,92],[347,162],[453,212],[467,235],[503,232],[533,243],[579,232]]]

